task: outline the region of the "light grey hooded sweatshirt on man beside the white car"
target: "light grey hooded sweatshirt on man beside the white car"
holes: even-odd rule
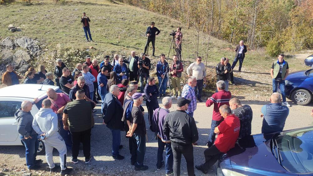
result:
[[[58,135],[58,116],[50,108],[40,108],[33,119],[33,129],[40,135],[46,133],[46,138]]]

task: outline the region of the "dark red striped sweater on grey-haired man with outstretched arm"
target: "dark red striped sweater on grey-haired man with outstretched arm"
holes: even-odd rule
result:
[[[225,90],[220,90],[217,93],[214,93],[212,97],[208,98],[205,105],[207,107],[210,107],[212,104],[214,104],[212,120],[216,120],[216,121],[223,120],[223,117],[221,113],[219,113],[218,108],[224,104],[227,104],[229,106],[230,98],[232,98],[232,94],[229,91],[225,91]]]

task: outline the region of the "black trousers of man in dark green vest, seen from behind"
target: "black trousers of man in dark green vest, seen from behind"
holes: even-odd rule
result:
[[[83,151],[85,158],[90,157],[90,133],[91,128],[80,132],[71,132],[72,134],[72,157],[77,158],[79,153],[80,142],[83,143]]]

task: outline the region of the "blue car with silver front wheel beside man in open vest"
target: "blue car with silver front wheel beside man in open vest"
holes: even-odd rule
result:
[[[299,105],[309,104],[313,93],[313,69],[290,73],[285,85],[287,98]]]

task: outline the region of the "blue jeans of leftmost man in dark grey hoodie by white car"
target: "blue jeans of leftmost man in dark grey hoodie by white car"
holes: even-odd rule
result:
[[[24,136],[20,135],[22,142],[25,145],[25,158],[27,168],[33,168],[36,164],[37,150],[39,147],[39,142],[37,138],[37,134],[33,134],[30,136],[31,138],[25,139]]]

